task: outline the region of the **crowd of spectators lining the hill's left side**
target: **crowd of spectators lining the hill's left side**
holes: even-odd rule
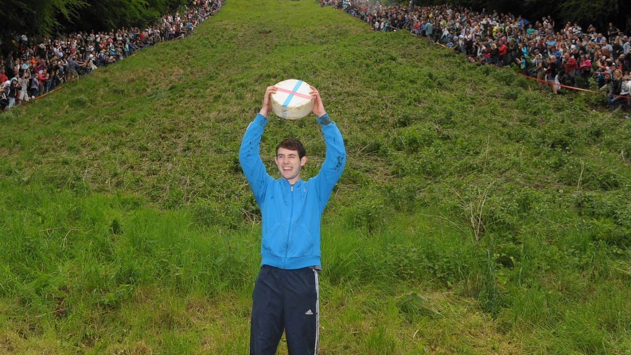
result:
[[[219,11],[223,1],[191,1],[181,14],[168,13],[146,28],[76,32],[58,39],[16,34],[14,44],[18,49],[0,56],[0,111],[121,61],[144,47],[186,36]]]

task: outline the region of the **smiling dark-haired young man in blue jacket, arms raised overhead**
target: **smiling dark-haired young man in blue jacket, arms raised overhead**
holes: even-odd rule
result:
[[[245,130],[239,150],[239,162],[262,214],[261,269],[252,292],[251,355],[275,354],[283,330],[290,355],[317,353],[320,219],[344,170],[346,151],[320,94],[314,87],[311,90],[312,112],[326,144],[316,176],[300,179],[307,157],[302,143],[293,138],[276,147],[280,179],[269,176],[263,165],[259,143],[276,87],[267,88],[261,111]]]

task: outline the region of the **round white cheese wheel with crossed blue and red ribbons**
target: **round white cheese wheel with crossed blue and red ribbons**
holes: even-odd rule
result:
[[[311,88],[302,80],[283,80],[274,85],[276,93],[270,95],[272,109],[278,117],[299,119],[307,116],[314,107],[309,95]]]

